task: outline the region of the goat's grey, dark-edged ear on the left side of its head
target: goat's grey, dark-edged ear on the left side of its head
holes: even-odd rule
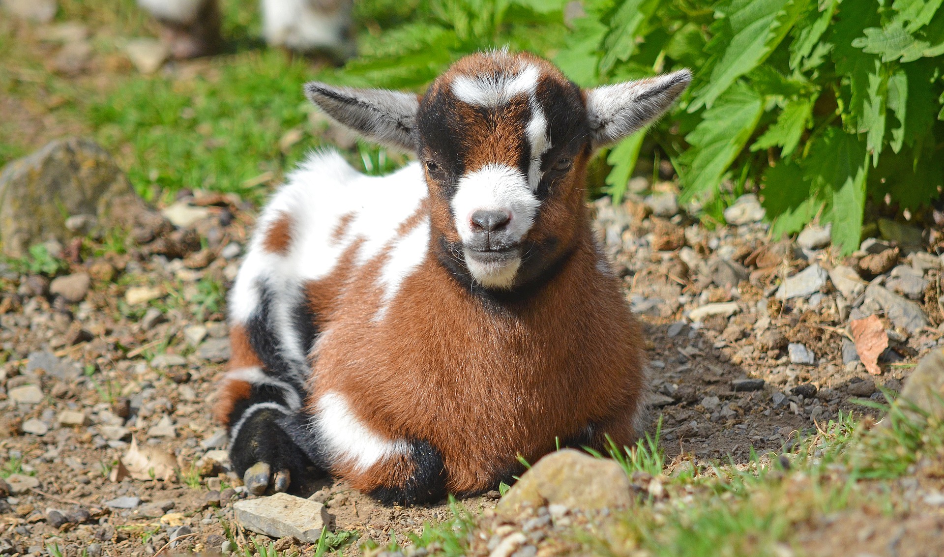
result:
[[[319,109],[365,138],[415,152],[416,111],[419,98],[413,93],[385,89],[333,87],[312,81],[305,94]]]

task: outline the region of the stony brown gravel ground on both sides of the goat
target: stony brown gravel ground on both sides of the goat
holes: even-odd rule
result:
[[[864,412],[856,398],[881,397],[878,387],[897,391],[912,363],[937,346],[939,260],[927,251],[904,255],[867,241],[879,254],[895,251],[885,256],[887,268],[867,274],[868,249],[837,260],[828,245],[771,243],[757,222],[709,231],[680,213],[671,195],[596,204],[600,235],[647,324],[649,430],[661,417],[669,457],[730,455],[742,463],[751,447],[781,449],[840,411]],[[125,253],[93,241],[81,249],[48,245],[71,261],[51,281],[0,271],[0,348],[8,357],[0,368],[0,459],[13,488],[0,499],[0,552],[41,554],[56,542],[66,555],[79,548],[143,555],[185,533],[192,535],[176,549],[218,549],[230,502],[245,497],[226,471],[225,432],[208,405],[228,358],[223,296],[253,213],[231,195],[209,194],[162,212],[185,226],[164,235],[133,230],[142,244],[128,239],[117,250]],[[188,240],[194,237],[205,246]],[[823,271],[806,294],[778,297],[784,278],[839,264],[860,269],[870,289],[884,284],[885,293],[907,295],[895,281],[906,271],[920,289],[913,300],[894,295],[883,305],[865,282],[843,284],[851,288],[846,296]],[[926,323],[908,329],[895,302],[910,304]],[[868,312],[889,338],[878,376],[859,362],[847,328]],[[177,474],[128,477],[135,470],[119,463],[132,438],[170,455]],[[381,507],[326,480],[305,492],[326,502],[336,528],[357,531],[362,541],[386,543],[389,532],[419,532],[424,521],[449,515],[445,503]],[[496,499],[465,505],[490,509]]]

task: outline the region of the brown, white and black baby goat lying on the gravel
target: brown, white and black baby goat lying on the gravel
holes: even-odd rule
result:
[[[269,464],[281,490],[313,464],[409,503],[494,489],[556,439],[631,443],[642,339],[584,178],[690,77],[582,91],[498,51],[419,97],[309,83],[332,118],[418,161],[367,177],[316,154],[262,212],[216,403],[236,471]]]

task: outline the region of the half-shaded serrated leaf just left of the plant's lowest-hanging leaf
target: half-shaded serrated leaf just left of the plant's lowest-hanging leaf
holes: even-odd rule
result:
[[[789,160],[767,168],[761,194],[774,238],[799,232],[823,206],[822,199],[810,192],[810,182],[803,179],[801,167]]]

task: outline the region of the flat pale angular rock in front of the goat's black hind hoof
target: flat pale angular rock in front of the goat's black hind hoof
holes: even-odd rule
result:
[[[233,509],[236,522],[246,530],[276,538],[293,536],[309,544],[318,541],[330,520],[323,504],[286,493],[237,501]]]

